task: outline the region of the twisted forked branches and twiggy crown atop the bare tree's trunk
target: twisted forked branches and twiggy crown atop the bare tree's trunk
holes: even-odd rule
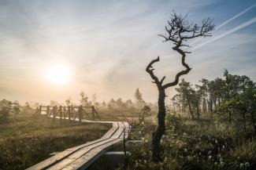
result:
[[[184,71],[180,71],[176,74],[175,80],[172,82],[169,82],[165,85],[163,84],[163,81],[165,80],[165,76],[161,78],[161,81],[158,80],[158,77],[154,75],[154,68],[153,64],[158,62],[159,56],[157,59],[152,60],[146,68],[147,73],[150,74],[150,77],[154,80],[154,83],[158,86],[158,89],[167,89],[171,86],[177,85],[179,83],[179,79],[181,75],[188,74],[189,71],[191,71],[191,67],[185,63],[185,58],[187,52],[183,49],[180,49],[180,47],[187,46],[184,44],[184,42],[187,42],[187,40],[192,38],[198,38],[198,37],[208,37],[211,36],[210,32],[214,29],[214,24],[212,24],[212,19],[207,18],[205,20],[202,20],[202,26],[199,27],[197,24],[189,23],[186,20],[186,16],[177,15],[176,13],[173,13],[171,20],[168,21],[168,26],[165,27],[166,34],[158,34],[158,36],[164,38],[163,42],[173,42],[175,45],[173,47],[173,50],[176,52],[179,52],[181,55],[181,63],[186,68]]]

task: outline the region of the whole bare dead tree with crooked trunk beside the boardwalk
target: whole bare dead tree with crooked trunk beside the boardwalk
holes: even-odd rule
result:
[[[159,78],[154,74],[153,64],[157,63],[160,59],[152,60],[146,68],[150,77],[154,80],[158,87],[158,126],[155,132],[152,134],[152,157],[151,161],[160,161],[160,141],[161,136],[165,133],[165,89],[177,85],[179,83],[179,78],[181,75],[187,74],[191,71],[191,67],[185,63],[185,57],[187,52],[182,49],[182,47],[188,47],[185,42],[190,39],[198,37],[210,36],[210,32],[213,31],[214,24],[212,24],[212,19],[207,18],[202,20],[202,25],[189,23],[187,20],[187,15],[177,15],[173,13],[170,20],[168,20],[168,25],[165,27],[167,34],[159,34],[164,38],[163,42],[172,42],[174,47],[173,50],[181,55],[181,63],[186,68],[184,71],[180,71],[176,74],[175,80],[169,83],[163,84],[165,76],[159,80]]]

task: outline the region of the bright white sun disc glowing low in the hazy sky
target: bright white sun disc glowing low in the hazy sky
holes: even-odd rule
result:
[[[51,65],[46,68],[46,78],[54,85],[65,85],[70,79],[69,67],[65,65]]]

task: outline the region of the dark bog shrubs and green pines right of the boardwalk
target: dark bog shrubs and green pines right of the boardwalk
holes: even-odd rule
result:
[[[184,79],[166,107],[161,162],[150,162],[147,121],[132,147],[128,169],[255,169],[256,85],[243,75],[224,71],[223,78],[202,78],[198,85]]]

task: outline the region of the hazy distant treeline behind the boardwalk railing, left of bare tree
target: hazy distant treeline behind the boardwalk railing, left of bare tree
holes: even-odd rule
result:
[[[118,99],[109,99],[109,101],[98,102],[97,95],[94,93],[89,99],[85,92],[80,92],[80,102],[73,103],[72,99],[65,99],[64,103],[58,103],[55,100],[50,100],[50,106],[77,106],[82,105],[84,107],[95,106],[96,109],[100,110],[142,110],[143,107],[150,107],[151,110],[157,110],[156,103],[147,103],[143,99],[143,95],[139,92],[139,89],[135,90],[135,99],[123,100],[121,98]],[[39,107],[39,103],[28,103],[26,102],[24,105],[20,105],[20,103],[16,100],[14,102],[9,101],[7,99],[0,100],[0,118],[8,118],[10,114],[15,113],[20,114],[20,112],[33,113],[33,111]],[[34,111],[35,112],[35,111]]]

